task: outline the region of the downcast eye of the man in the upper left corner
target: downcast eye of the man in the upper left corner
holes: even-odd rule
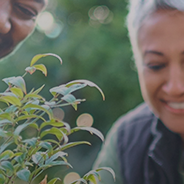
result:
[[[30,10],[30,8],[26,8],[20,4],[16,4],[16,8],[26,19],[34,19],[37,16],[33,10]]]

